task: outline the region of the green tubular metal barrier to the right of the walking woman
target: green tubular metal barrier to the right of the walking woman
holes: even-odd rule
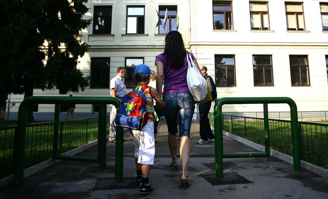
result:
[[[264,153],[223,153],[223,116],[222,106],[224,104],[250,104],[262,103],[264,112]],[[290,107],[291,131],[293,141],[293,163],[294,171],[301,171],[300,139],[298,132],[297,106],[294,100],[287,97],[268,98],[221,98],[215,100],[214,105],[214,133],[215,133],[215,175],[216,178],[223,178],[223,158],[247,158],[247,157],[269,157],[269,120],[268,103],[287,103]]]

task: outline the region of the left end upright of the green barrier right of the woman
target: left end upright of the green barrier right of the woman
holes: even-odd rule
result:
[[[218,99],[214,105],[214,136],[215,136],[215,177],[223,178],[223,126],[222,104]]]

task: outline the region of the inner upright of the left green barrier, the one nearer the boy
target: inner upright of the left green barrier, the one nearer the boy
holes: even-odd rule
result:
[[[98,160],[100,168],[106,167],[106,104],[99,104],[98,116]]]

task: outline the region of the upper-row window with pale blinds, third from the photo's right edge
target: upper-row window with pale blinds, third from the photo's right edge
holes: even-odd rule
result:
[[[249,2],[250,29],[269,30],[269,11],[267,2]]]

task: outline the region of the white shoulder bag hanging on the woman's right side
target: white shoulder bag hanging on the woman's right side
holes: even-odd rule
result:
[[[194,100],[202,101],[205,99],[207,94],[207,83],[203,78],[202,74],[198,71],[197,66],[191,59],[190,53],[187,51],[187,62],[188,62],[188,71],[187,71],[187,83],[191,95],[194,97]]]

